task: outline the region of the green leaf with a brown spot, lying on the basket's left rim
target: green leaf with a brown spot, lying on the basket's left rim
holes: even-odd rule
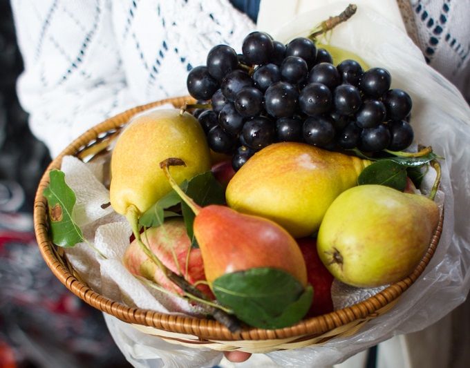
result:
[[[49,185],[44,189],[49,209],[50,233],[54,244],[74,246],[83,242],[82,229],[73,221],[73,206],[77,198],[65,182],[63,171],[52,170],[49,173]]]

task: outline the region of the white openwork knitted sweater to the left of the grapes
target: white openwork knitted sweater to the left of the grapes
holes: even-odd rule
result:
[[[254,23],[228,0],[13,0],[25,72],[17,90],[53,157],[106,117],[187,95],[191,66]]]

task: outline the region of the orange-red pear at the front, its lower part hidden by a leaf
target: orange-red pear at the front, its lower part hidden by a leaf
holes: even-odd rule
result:
[[[307,284],[306,264],[297,242],[271,220],[211,205],[196,215],[194,235],[209,284],[225,273],[256,267],[281,269],[304,287]]]

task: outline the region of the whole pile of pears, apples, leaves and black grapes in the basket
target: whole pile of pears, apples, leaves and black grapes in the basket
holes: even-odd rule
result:
[[[126,269],[232,332],[332,311],[334,280],[402,280],[440,218],[439,157],[410,148],[409,95],[384,68],[336,62],[315,35],[284,45],[253,32],[240,55],[215,46],[187,77],[197,104],[138,115],[113,146]],[[44,195],[54,238],[64,201]]]

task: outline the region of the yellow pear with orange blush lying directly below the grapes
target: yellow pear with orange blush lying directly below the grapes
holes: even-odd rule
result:
[[[351,186],[368,160],[303,143],[271,144],[251,157],[230,180],[227,204],[267,217],[294,238],[311,235],[335,198]]]

